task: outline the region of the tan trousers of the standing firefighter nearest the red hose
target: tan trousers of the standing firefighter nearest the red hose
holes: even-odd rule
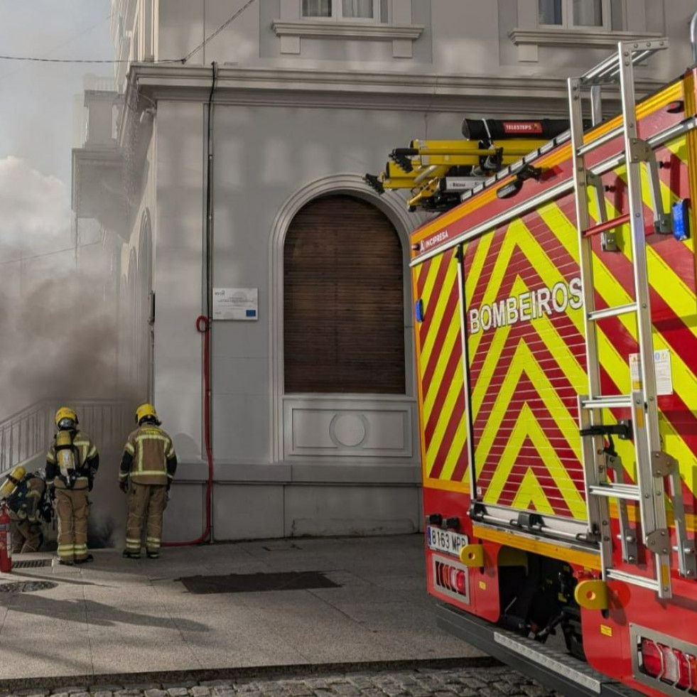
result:
[[[157,556],[162,544],[162,514],[167,505],[167,486],[138,484],[129,488],[129,517],[126,522],[126,550],[141,553],[143,528],[145,548],[149,556]]]

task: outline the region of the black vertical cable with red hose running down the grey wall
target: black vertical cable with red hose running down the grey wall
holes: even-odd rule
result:
[[[213,498],[213,446],[212,446],[212,423],[211,423],[211,387],[210,387],[210,328],[211,328],[211,298],[212,298],[212,217],[213,217],[213,193],[212,193],[212,174],[213,174],[213,94],[215,93],[215,83],[217,82],[217,63],[212,63],[212,82],[210,94],[208,95],[208,114],[207,114],[207,169],[206,169],[206,220],[205,220],[205,299],[203,302],[205,314],[196,318],[196,329],[203,335],[203,433],[205,440],[206,460],[208,464],[208,477],[206,480],[205,496],[205,529],[202,534],[194,539],[183,542],[163,542],[163,547],[188,547],[201,544],[209,538],[212,529],[212,498]]]

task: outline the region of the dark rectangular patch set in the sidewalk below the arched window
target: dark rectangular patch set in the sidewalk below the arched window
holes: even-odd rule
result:
[[[340,588],[321,571],[230,573],[227,576],[186,576],[179,579],[189,593],[263,593],[266,590]]]

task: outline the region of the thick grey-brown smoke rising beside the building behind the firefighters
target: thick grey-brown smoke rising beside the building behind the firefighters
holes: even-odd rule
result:
[[[119,313],[112,244],[94,221],[74,231],[60,180],[19,158],[0,160],[0,421],[43,402],[77,406],[101,455],[90,538],[102,546],[124,536],[117,470],[128,417],[146,389],[124,369],[133,357],[124,356],[129,342],[121,334],[131,318],[124,308]],[[125,416],[114,426],[119,413]]]

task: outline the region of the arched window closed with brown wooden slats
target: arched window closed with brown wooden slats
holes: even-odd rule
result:
[[[298,212],[283,247],[286,394],[405,394],[403,259],[367,202],[331,195]]]

